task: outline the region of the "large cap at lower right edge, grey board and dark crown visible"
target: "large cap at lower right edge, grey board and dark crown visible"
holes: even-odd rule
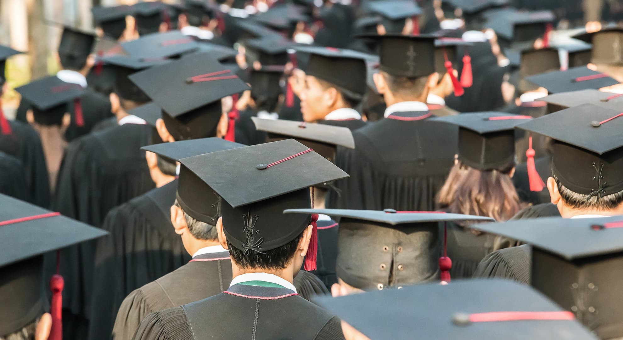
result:
[[[623,335],[623,218],[537,218],[470,228],[532,245],[531,285],[601,339]],[[341,227],[341,226],[340,226]]]

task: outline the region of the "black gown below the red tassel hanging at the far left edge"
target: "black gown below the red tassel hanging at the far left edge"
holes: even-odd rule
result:
[[[9,120],[11,134],[0,133],[0,151],[17,158],[24,168],[27,197],[32,203],[49,208],[50,182],[45,165],[45,155],[39,134],[31,125],[24,122]]]

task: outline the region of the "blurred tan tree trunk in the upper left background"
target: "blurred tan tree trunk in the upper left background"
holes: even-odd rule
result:
[[[47,25],[44,16],[44,0],[26,0],[26,10],[31,76],[32,79],[37,79],[47,75]]]

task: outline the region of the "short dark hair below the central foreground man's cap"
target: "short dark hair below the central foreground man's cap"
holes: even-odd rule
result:
[[[304,233],[305,231],[303,231]],[[227,240],[229,256],[235,265],[240,268],[251,269],[261,268],[265,270],[282,270],[292,262],[297,251],[298,243],[303,237],[303,233],[289,243],[275,249],[267,250],[264,254],[249,251],[249,255],[244,255],[244,250],[239,250]]]

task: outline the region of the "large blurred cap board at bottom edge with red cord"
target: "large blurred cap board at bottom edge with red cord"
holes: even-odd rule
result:
[[[314,302],[375,340],[596,340],[573,314],[509,280],[417,284]]]

